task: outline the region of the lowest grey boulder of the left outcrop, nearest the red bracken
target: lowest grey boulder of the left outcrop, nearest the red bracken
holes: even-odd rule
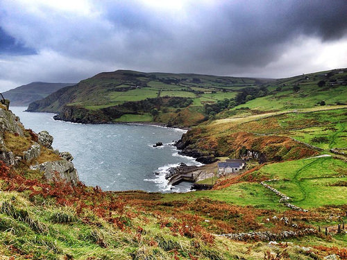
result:
[[[74,164],[65,158],[54,162],[44,162],[38,168],[44,173],[46,180],[49,181],[65,180],[73,185],[76,185],[79,181]]]

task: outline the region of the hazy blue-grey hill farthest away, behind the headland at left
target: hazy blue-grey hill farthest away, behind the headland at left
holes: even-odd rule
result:
[[[3,92],[3,96],[11,101],[10,105],[27,106],[33,101],[45,98],[62,87],[67,87],[74,84],[76,83],[33,82],[16,87],[15,89],[10,89],[7,92]]]

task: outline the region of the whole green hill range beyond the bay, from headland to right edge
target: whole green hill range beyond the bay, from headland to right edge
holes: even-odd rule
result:
[[[260,79],[199,74],[99,73],[31,103],[77,123],[155,122],[192,126],[230,115],[347,103],[347,71]]]

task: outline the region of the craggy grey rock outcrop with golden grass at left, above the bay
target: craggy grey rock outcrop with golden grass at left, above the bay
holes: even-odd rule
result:
[[[0,160],[16,171],[33,172],[47,181],[65,180],[77,184],[78,173],[69,153],[53,150],[53,137],[26,130],[19,117],[0,105]]]

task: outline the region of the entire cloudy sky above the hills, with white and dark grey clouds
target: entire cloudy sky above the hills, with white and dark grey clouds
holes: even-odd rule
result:
[[[346,0],[1,0],[0,91],[117,69],[283,78],[347,67],[346,14]]]

